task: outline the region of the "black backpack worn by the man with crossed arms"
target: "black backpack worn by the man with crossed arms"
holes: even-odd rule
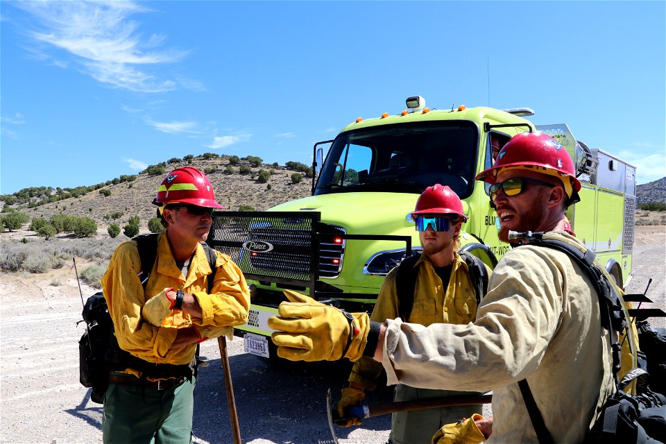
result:
[[[133,238],[137,242],[141,273],[139,278],[144,289],[157,258],[157,234],[142,234]],[[208,292],[215,280],[215,262],[217,255],[205,242],[201,243],[210,264],[212,273],[208,276]],[[121,349],[114,334],[113,322],[101,291],[90,296],[83,305],[83,321],[86,330],[78,341],[79,382],[92,388],[90,399],[103,404],[104,393],[108,387],[111,371],[135,368],[145,377],[186,377],[194,374],[194,363],[175,366],[172,364],[151,364]],[[198,355],[198,348],[196,354]],[[195,361],[196,362],[196,361]]]

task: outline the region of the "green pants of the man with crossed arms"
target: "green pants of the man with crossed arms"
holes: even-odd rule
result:
[[[195,384],[192,378],[162,391],[109,384],[102,418],[104,443],[191,444]]]

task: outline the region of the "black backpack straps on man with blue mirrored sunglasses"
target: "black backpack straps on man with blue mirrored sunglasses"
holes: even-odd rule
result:
[[[488,270],[484,262],[472,253],[461,251],[458,254],[465,260],[469,268],[477,305],[479,305],[481,298],[486,296],[488,291]],[[414,305],[414,289],[416,287],[416,275],[418,274],[418,269],[414,268],[414,265],[420,257],[420,254],[405,257],[398,266],[398,274],[395,275],[395,289],[398,292],[398,302],[400,302],[398,311],[400,311],[400,318],[405,322],[409,319]]]

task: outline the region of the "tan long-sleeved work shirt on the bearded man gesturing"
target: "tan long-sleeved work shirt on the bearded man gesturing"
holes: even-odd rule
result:
[[[558,232],[584,248],[575,238]],[[488,443],[536,443],[518,381],[527,378],[558,443],[583,441],[614,390],[609,332],[597,293],[565,254],[522,246],[493,271],[477,319],[430,327],[388,321],[384,368],[389,384],[493,390]]]

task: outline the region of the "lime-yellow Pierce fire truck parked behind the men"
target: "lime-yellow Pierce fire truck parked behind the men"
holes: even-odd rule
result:
[[[631,279],[635,167],[588,148],[565,124],[535,126],[529,108],[425,108],[385,112],[345,127],[314,146],[311,196],[266,212],[215,212],[208,242],[239,264],[251,289],[250,317],[236,327],[246,352],[274,357],[266,325],[286,300],[282,289],[307,293],[348,311],[372,311],[384,276],[418,250],[409,217],[418,196],[448,185],[469,216],[461,250],[493,268],[509,250],[497,239],[497,213],[488,184],[475,181],[493,162],[493,145],[518,133],[542,131],[567,148],[583,184],[581,203],[566,212],[572,230],[620,287]],[[323,148],[327,155],[323,160]]]

